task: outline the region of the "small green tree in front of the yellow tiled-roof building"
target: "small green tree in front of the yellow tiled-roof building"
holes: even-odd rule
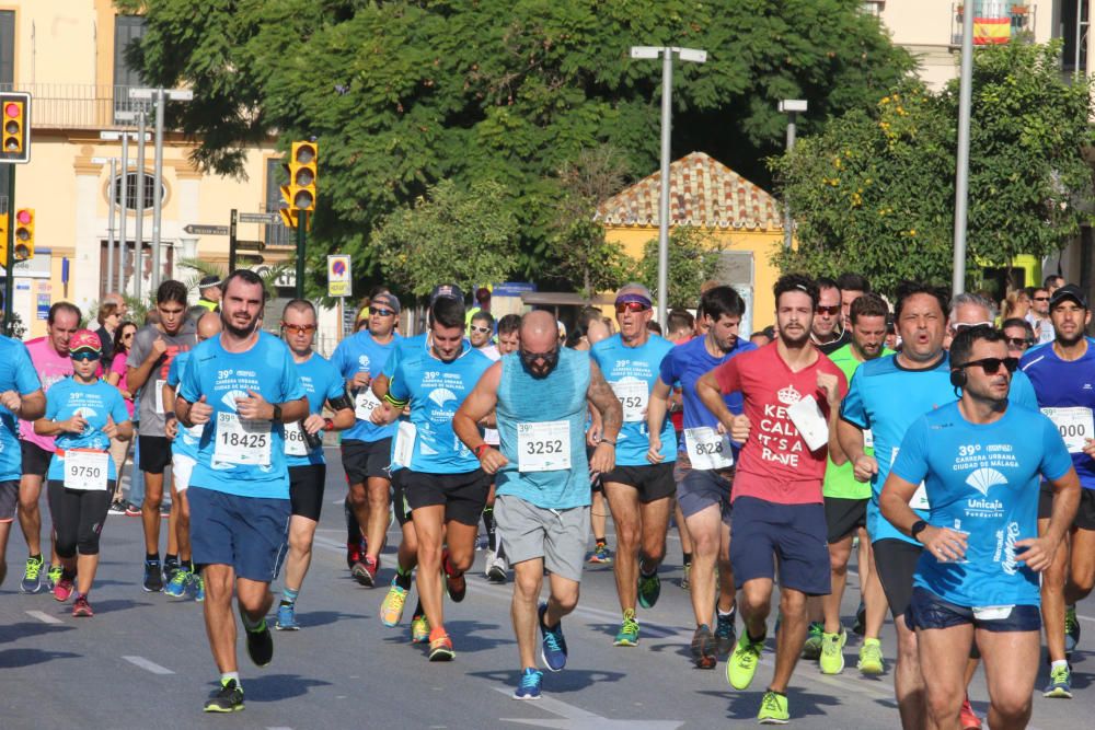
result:
[[[691,225],[678,225],[669,232],[669,270],[666,273],[669,309],[693,309],[700,301],[700,287],[718,273],[723,243],[708,232]],[[638,280],[658,296],[658,240],[643,247]]]

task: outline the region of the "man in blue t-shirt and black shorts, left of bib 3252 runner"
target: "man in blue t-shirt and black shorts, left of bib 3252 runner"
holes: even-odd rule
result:
[[[384,404],[372,412],[373,422],[391,424],[405,406],[411,407],[410,422],[400,427],[393,461],[406,467],[401,486],[417,535],[418,595],[430,627],[430,661],[456,656],[445,630],[437,576],[443,569],[449,598],[463,601],[464,571],[475,555],[491,484],[475,456],[452,433],[452,415],[491,366],[485,355],[466,345],[463,333],[463,301],[436,299],[425,347],[400,350]],[[442,543],[448,545],[443,552]]]

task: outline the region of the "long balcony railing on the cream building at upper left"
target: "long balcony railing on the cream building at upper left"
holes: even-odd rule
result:
[[[136,126],[134,113],[150,111],[146,100],[129,99],[129,86],[69,83],[0,84],[25,91],[33,100],[31,126],[49,129],[112,129]]]

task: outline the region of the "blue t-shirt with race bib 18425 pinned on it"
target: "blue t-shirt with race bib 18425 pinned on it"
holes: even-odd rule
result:
[[[285,343],[265,332],[258,333],[257,341],[245,352],[226,350],[221,336],[194,348],[183,372],[183,399],[195,403],[204,395],[214,409],[201,433],[191,486],[241,497],[288,499],[284,425],[256,421],[249,427],[235,417],[235,401],[247,397],[247,391],[267,403],[304,397],[292,354]]]

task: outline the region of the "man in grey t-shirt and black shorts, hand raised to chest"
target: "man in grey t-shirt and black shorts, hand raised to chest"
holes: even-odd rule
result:
[[[137,332],[129,357],[126,381],[129,390],[140,398],[140,433],[138,459],[145,475],[145,501],[141,520],[145,525],[145,576],[141,588],[155,593],[163,590],[164,573],[170,581],[178,568],[175,529],[178,514],[168,521],[168,553],[160,564],[160,505],[163,502],[163,471],[171,463],[171,444],[165,431],[163,384],[168,380],[171,361],[197,344],[194,323],[186,317],[186,287],[168,279],[155,291],[155,312],[159,323]],[[170,408],[168,408],[170,410]],[[175,547],[172,551],[172,547]]]

